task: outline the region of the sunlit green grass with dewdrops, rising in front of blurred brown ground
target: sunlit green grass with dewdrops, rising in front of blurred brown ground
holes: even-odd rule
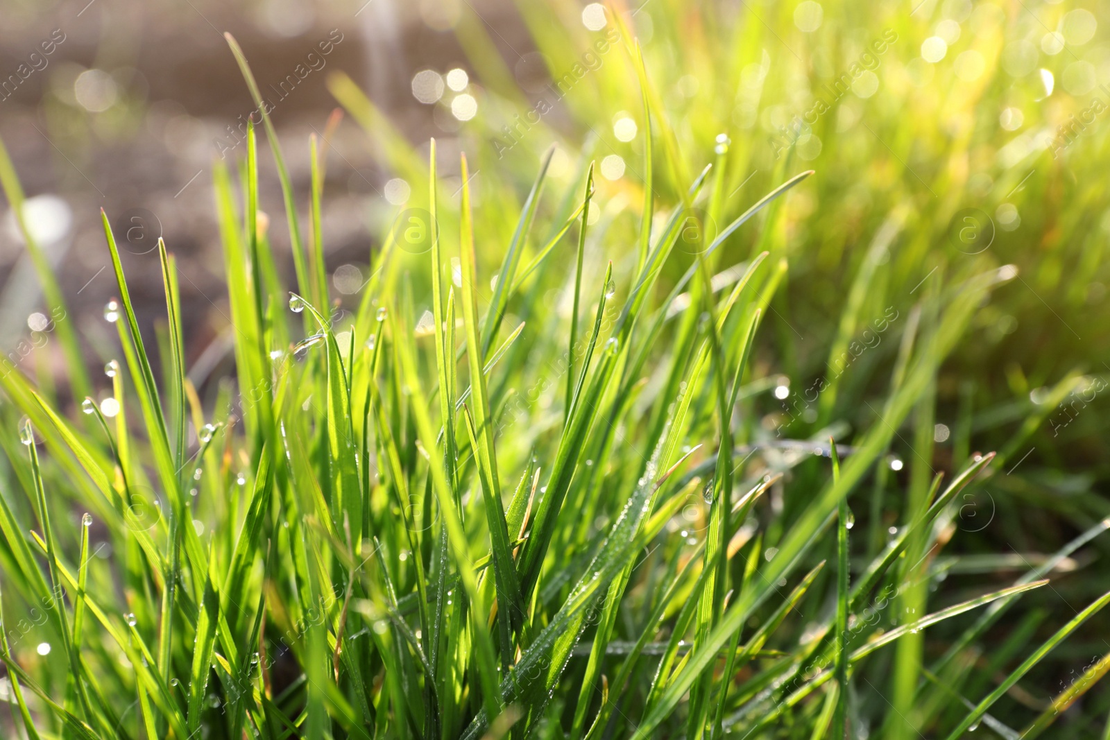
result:
[[[104,219],[119,287],[107,379],[85,373],[65,322],[68,388],[46,368],[0,376],[13,731],[958,738],[981,723],[1031,738],[1066,718],[1077,737],[1110,732],[1108,696],[1091,690],[1110,655],[1081,629],[1110,601],[1107,585],[1043,588],[1110,528],[1089,490],[1098,468],[1064,476],[1082,453],[1046,430],[1096,387],[1079,374],[1090,345],[1046,305],[1069,318],[1091,305],[1062,274],[1097,277],[1104,186],[1069,181],[1036,148],[999,159],[988,109],[1038,93],[1008,85],[998,64],[946,98],[952,139],[907,120],[944,85],[907,104],[895,70],[859,125],[847,98],[804,152],[799,139],[776,156],[744,111],[765,89],[797,87],[786,81],[798,69],[765,51],[801,49],[790,9],[737,20],[716,17],[729,3],[654,4],[610,8],[622,43],[565,98],[567,125],[594,134],[577,146],[541,120],[501,156],[491,138],[534,104],[475,17],[457,29],[485,85],[482,116],[455,142],[472,168],[406,142],[333,77],[414,193],[346,305],[324,262],[330,134],[310,143],[301,223],[263,121],[287,284],[278,229],[259,217],[281,206],[259,203],[251,129],[245,159],[218,162],[213,179],[234,377],[188,379],[163,244],[165,312],[144,341]],[[576,8],[519,7],[554,77],[589,48]],[[892,27],[916,49],[947,11],[891,9],[837,36],[862,12],[827,10],[828,36],[807,43],[825,53],[839,39],[836,58],[850,61]],[[969,42],[996,59],[1029,24],[975,18]],[[894,69],[897,49],[887,53]],[[676,98],[687,78],[699,91]],[[595,130],[616,107],[636,111],[632,144]],[[562,149],[546,150],[552,139]],[[627,166],[617,182],[595,176],[592,161],[610,155]],[[1010,199],[1029,169],[1022,231],[999,231],[979,254],[951,249],[952,214],[993,212],[989,199]],[[993,189],[976,195],[980,173]],[[19,213],[2,150],[0,180]],[[1025,207],[1050,197],[1067,206]],[[24,236],[47,301],[64,306]],[[1012,344],[1002,318],[1019,326]],[[983,369],[1006,363],[1006,383]],[[114,414],[80,402],[98,386]],[[1094,416],[1080,408],[1064,434]],[[1040,452],[1026,460],[1029,447]],[[1026,467],[1007,475],[1015,464]],[[961,527],[987,500],[998,521]],[[1023,533],[1030,517],[1045,531]],[[1021,685],[1031,677],[1041,688]]]

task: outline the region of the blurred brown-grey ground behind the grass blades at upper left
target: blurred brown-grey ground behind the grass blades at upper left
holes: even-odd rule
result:
[[[509,7],[484,0],[477,6],[500,34],[527,44]],[[151,253],[161,235],[178,254],[186,277],[182,293],[190,348],[203,352],[219,333],[213,303],[225,303],[225,297],[211,164],[214,158],[245,156],[245,143],[239,143],[245,139],[246,118],[260,123],[224,32],[239,40],[266,94],[280,99],[273,122],[290,141],[293,182],[306,195],[307,138],[323,132],[336,107],[325,85],[325,75],[335,70],[364,87],[414,141],[457,131],[457,120],[435,115],[441,125],[433,122],[430,105],[414,98],[411,79],[421,69],[446,73],[466,67],[452,32],[461,12],[461,2],[440,0],[4,0],[0,136],[31,199],[31,221],[85,325],[82,334],[97,336],[101,310],[115,291],[105,280],[110,275],[99,272],[109,264],[101,207],[124,250]],[[326,44],[327,53],[320,44]],[[442,79],[436,84],[442,92]],[[425,95],[424,103],[434,101]],[[339,129],[332,159],[324,214],[327,262],[332,267],[352,261],[365,265],[367,219],[391,205],[384,196],[391,176],[370,155],[355,126]],[[280,209],[272,165],[270,158],[263,159],[262,186]],[[393,200],[401,202],[396,194]],[[0,235],[0,337],[2,346],[16,346],[34,328],[27,316],[39,290],[10,214],[6,224]],[[275,230],[276,239],[284,239],[287,254],[287,236],[281,231]],[[133,260],[128,268],[137,272],[137,300],[157,305],[158,260]]]

